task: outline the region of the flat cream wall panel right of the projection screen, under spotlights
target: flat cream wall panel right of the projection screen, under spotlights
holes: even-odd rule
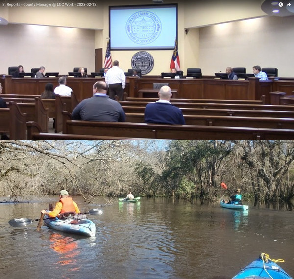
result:
[[[204,75],[254,65],[294,77],[294,16],[263,17],[200,28],[199,67]]]

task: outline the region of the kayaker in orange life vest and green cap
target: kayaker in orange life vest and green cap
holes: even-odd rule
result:
[[[77,204],[69,197],[69,193],[66,190],[59,192],[59,202],[56,203],[53,211],[42,210],[41,213],[48,215],[49,217],[60,217],[63,213],[73,212],[80,213]]]

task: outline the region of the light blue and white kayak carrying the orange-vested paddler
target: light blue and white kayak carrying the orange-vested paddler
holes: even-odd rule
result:
[[[96,233],[96,226],[89,219],[81,219],[81,220],[74,220],[74,219],[66,219],[60,220],[56,218],[49,218],[44,219],[44,223],[51,229],[79,234],[83,236],[95,236]]]

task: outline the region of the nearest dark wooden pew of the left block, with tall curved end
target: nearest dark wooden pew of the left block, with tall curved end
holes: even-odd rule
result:
[[[9,133],[11,140],[26,139],[26,116],[17,103],[9,102],[8,108],[0,108],[0,133]]]

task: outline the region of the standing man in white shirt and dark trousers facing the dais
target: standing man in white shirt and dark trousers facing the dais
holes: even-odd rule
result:
[[[106,73],[105,82],[109,86],[109,98],[114,99],[114,95],[117,95],[120,101],[123,101],[125,74],[123,70],[119,68],[119,61],[113,61],[113,67]]]

